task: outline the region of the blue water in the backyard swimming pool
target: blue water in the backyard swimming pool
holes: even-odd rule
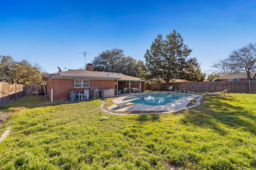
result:
[[[145,104],[149,106],[166,105],[167,103],[176,102],[180,98],[188,97],[186,94],[146,94],[138,100],[131,103]]]

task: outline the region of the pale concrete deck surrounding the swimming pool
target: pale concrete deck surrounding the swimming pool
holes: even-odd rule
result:
[[[157,93],[165,93],[165,94],[168,93],[169,94],[170,92],[157,92]],[[118,95],[120,97],[116,98],[112,101],[114,103],[115,102],[120,102],[123,99],[136,98],[136,97],[142,96],[144,94],[150,94],[150,93],[146,92],[146,93],[138,93],[138,94]],[[184,93],[172,93],[171,92],[171,94],[184,94]],[[161,106],[148,106],[148,105],[144,105],[144,104],[128,103],[126,106],[117,107],[116,104],[113,104],[110,107],[108,107],[108,110],[112,111],[112,112],[118,112],[118,111],[121,111],[121,112],[123,112],[123,111],[159,111],[159,112],[162,112],[162,113],[168,113],[168,112],[174,112],[174,111],[181,111],[182,109],[189,109],[189,108],[196,107],[196,106],[200,105],[203,95],[198,95],[198,94],[188,94],[188,95],[190,95],[190,96],[180,98],[177,102],[172,102],[170,104],[161,105]],[[196,99],[196,98],[197,98],[197,102],[194,105],[187,107],[187,105],[190,103],[190,100],[193,100],[193,99]]]

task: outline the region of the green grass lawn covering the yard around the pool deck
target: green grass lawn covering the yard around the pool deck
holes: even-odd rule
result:
[[[208,96],[159,119],[108,115],[98,109],[100,100],[35,98],[2,109],[13,113],[6,123],[11,133],[0,143],[0,169],[256,170],[256,94]]]

